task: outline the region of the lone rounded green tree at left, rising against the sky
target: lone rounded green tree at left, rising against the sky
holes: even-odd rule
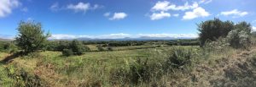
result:
[[[34,21],[21,21],[17,29],[19,35],[15,38],[17,46],[25,53],[36,52],[42,49],[50,36],[49,33],[44,35],[42,25]]]

